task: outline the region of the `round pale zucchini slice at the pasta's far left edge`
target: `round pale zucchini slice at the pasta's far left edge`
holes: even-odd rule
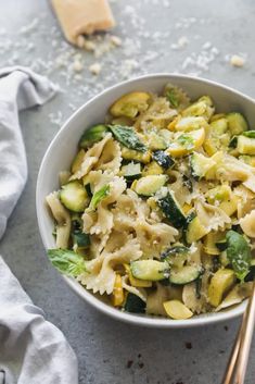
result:
[[[73,212],[84,212],[85,208],[89,205],[87,191],[77,181],[62,186],[60,190],[60,200]]]

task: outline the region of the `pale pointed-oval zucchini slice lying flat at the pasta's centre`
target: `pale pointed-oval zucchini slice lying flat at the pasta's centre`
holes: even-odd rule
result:
[[[131,189],[141,196],[152,196],[167,182],[167,175],[150,175],[136,179]]]

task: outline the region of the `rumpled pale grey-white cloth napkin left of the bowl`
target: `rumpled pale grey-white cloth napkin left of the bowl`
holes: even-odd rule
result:
[[[25,67],[0,70],[0,238],[27,178],[18,110],[42,104],[56,87]],[[0,384],[77,384],[65,337],[34,306],[0,257]]]

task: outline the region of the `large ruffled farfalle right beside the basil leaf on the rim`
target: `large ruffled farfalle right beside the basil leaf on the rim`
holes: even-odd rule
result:
[[[130,239],[124,247],[114,252],[103,251],[94,260],[86,263],[87,271],[79,276],[79,281],[87,289],[94,294],[111,295],[114,287],[116,272],[114,268],[119,264],[130,263],[141,257],[142,252],[137,239]]]

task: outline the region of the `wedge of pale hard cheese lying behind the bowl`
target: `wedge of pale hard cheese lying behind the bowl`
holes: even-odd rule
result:
[[[51,0],[66,39],[82,45],[79,36],[110,29],[115,21],[107,0]]]

